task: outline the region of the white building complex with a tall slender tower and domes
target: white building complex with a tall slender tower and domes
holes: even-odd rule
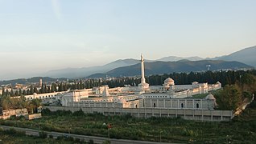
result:
[[[213,110],[215,98],[192,98],[195,94],[208,94],[221,88],[215,84],[192,82],[191,85],[175,85],[167,78],[162,86],[149,86],[144,77],[144,58],[141,55],[141,83],[138,86],[109,88],[99,86],[86,90],[71,90],[60,94],[62,106],[113,107],[113,108],[159,108]]]

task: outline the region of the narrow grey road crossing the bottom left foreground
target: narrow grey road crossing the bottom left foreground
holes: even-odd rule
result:
[[[2,127],[3,130],[14,128],[14,130],[25,131],[27,135],[39,136],[39,130],[32,130],[32,129],[21,128],[21,127],[13,127],[13,126],[0,126],[0,127]],[[108,139],[108,138],[87,136],[87,135],[80,135],[80,134],[59,133],[54,131],[51,131],[51,132],[44,131],[44,132],[47,133],[47,135],[52,135],[53,138],[65,136],[65,137],[72,137],[72,138],[80,138],[85,141],[89,141],[90,139],[92,139],[94,143],[102,143]],[[115,138],[110,138],[109,140],[111,144],[155,144],[155,143],[167,144],[166,142],[136,141],[136,140],[128,140],[128,139],[115,139]]]

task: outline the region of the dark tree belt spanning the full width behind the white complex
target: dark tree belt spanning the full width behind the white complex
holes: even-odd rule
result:
[[[221,82],[222,86],[233,85],[236,83],[248,83],[252,80],[251,75],[256,75],[256,70],[229,70],[229,71],[207,71],[204,73],[190,72],[190,73],[172,73],[172,74],[158,74],[150,75],[146,77],[147,83],[151,86],[159,86],[163,84],[166,78],[172,78],[176,85],[186,85],[192,82],[209,82],[216,83]],[[45,94],[57,91],[67,91],[67,90],[84,90],[97,86],[108,85],[110,88],[118,86],[138,86],[140,83],[140,77],[124,77],[124,78],[114,78],[112,80],[106,79],[86,79],[86,80],[72,80],[71,82],[52,82],[51,86],[43,84],[41,88],[31,85],[27,90],[5,90],[2,88],[2,95],[6,96],[22,96],[30,94]],[[247,86],[247,85],[243,85]],[[247,87],[244,87],[245,89]]]

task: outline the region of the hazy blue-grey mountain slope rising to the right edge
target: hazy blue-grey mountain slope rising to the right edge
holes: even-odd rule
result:
[[[246,49],[239,50],[232,54],[225,55],[216,59],[243,62],[247,65],[256,67],[256,46],[248,47]]]

